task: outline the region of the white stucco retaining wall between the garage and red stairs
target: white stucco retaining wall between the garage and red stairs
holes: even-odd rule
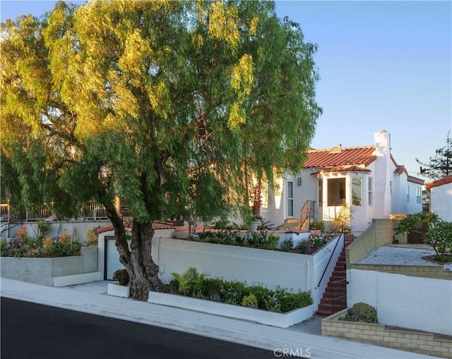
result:
[[[105,271],[105,237],[113,234],[113,231],[109,231],[99,236],[97,262],[102,275]],[[336,243],[338,245],[335,248]],[[263,284],[268,288],[280,286],[295,291],[311,291],[316,310],[343,243],[343,238],[338,237],[314,255],[302,255],[184,241],[172,238],[172,231],[155,231],[152,254],[153,260],[160,267],[159,277],[164,283],[169,283],[173,272],[184,273],[187,268],[195,267],[201,273],[225,280],[246,281],[249,285]],[[331,261],[328,263],[330,257]],[[320,281],[325,269],[326,272]]]

